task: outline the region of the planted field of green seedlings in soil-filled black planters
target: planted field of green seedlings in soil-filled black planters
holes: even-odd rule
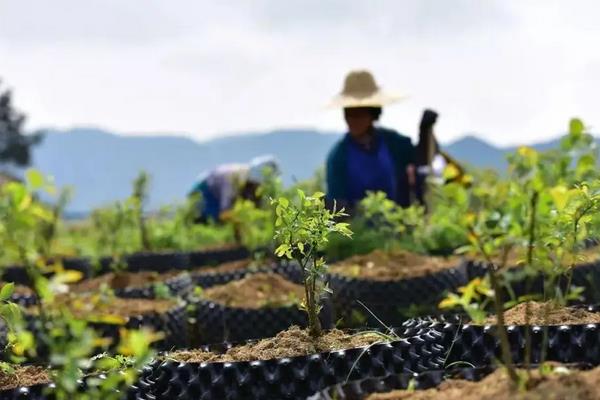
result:
[[[144,173],[66,221],[31,170],[0,188],[0,399],[600,399],[593,143],[573,119],[426,207],[269,176],[220,223],[144,212]]]

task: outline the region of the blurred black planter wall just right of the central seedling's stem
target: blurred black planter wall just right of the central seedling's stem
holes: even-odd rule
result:
[[[386,326],[399,326],[407,319],[412,305],[435,309],[446,292],[455,291],[466,282],[465,264],[422,277],[390,281],[329,275],[336,318],[347,327],[380,326],[379,320]],[[361,320],[357,320],[357,314]]]

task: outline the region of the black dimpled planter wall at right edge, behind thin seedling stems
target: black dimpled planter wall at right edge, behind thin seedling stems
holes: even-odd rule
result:
[[[598,311],[597,306],[586,307]],[[430,321],[416,319],[405,322],[405,327],[433,329],[442,336],[442,345],[448,352],[447,363],[468,362],[474,366],[491,365],[500,359],[500,341],[496,326],[462,324],[461,316],[439,317]],[[545,352],[546,361],[600,365],[600,324],[580,325],[521,325],[506,327],[514,363],[525,363],[525,335],[531,332],[531,360],[540,363]],[[543,349],[544,331],[547,346]]]

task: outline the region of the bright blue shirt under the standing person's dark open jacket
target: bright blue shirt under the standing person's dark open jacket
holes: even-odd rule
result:
[[[350,138],[346,151],[348,201],[352,206],[365,198],[368,191],[381,191],[389,199],[396,199],[396,170],[390,150],[377,131],[371,149],[367,150]]]

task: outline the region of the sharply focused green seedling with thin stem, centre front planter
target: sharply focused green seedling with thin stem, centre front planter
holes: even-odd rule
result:
[[[328,209],[324,194],[317,192],[306,196],[298,190],[297,201],[285,197],[273,199],[277,220],[275,222],[275,240],[279,246],[275,254],[281,258],[296,260],[302,269],[305,299],[302,308],[308,314],[308,330],[313,338],[321,335],[319,312],[320,299],[330,291],[323,283],[327,264],[318,255],[328,242],[329,236],[339,234],[350,237],[349,224],[337,222],[344,217],[344,210]]]

